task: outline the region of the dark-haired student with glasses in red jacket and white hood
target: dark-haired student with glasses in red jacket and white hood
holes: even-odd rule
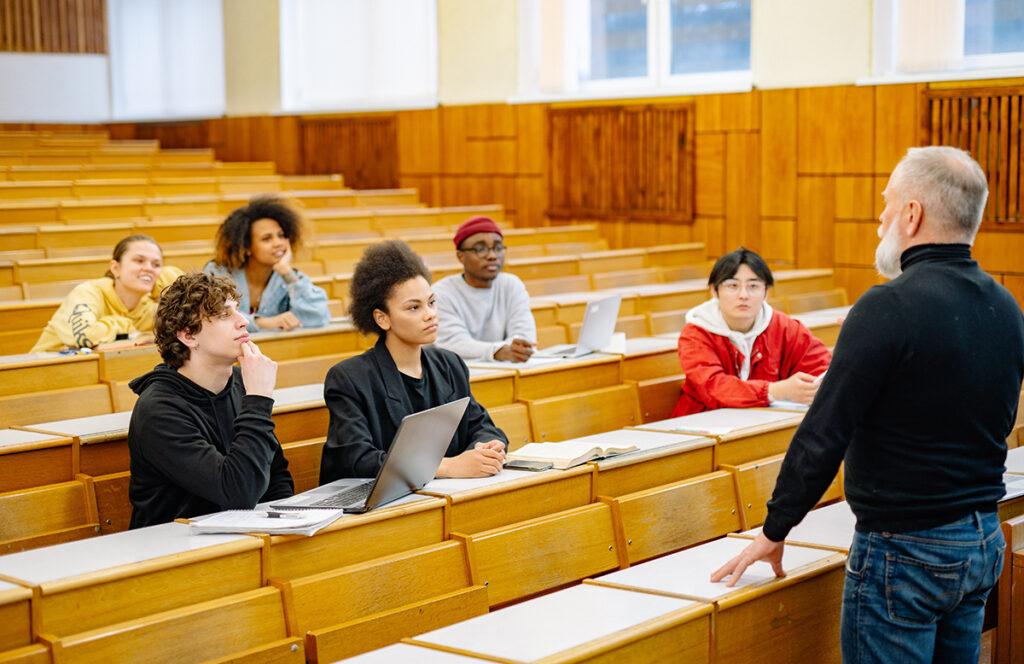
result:
[[[719,258],[712,299],[686,314],[679,363],[686,374],[673,417],[776,400],[810,404],[831,354],[810,330],[766,301],[775,284],[758,254],[739,247]]]

